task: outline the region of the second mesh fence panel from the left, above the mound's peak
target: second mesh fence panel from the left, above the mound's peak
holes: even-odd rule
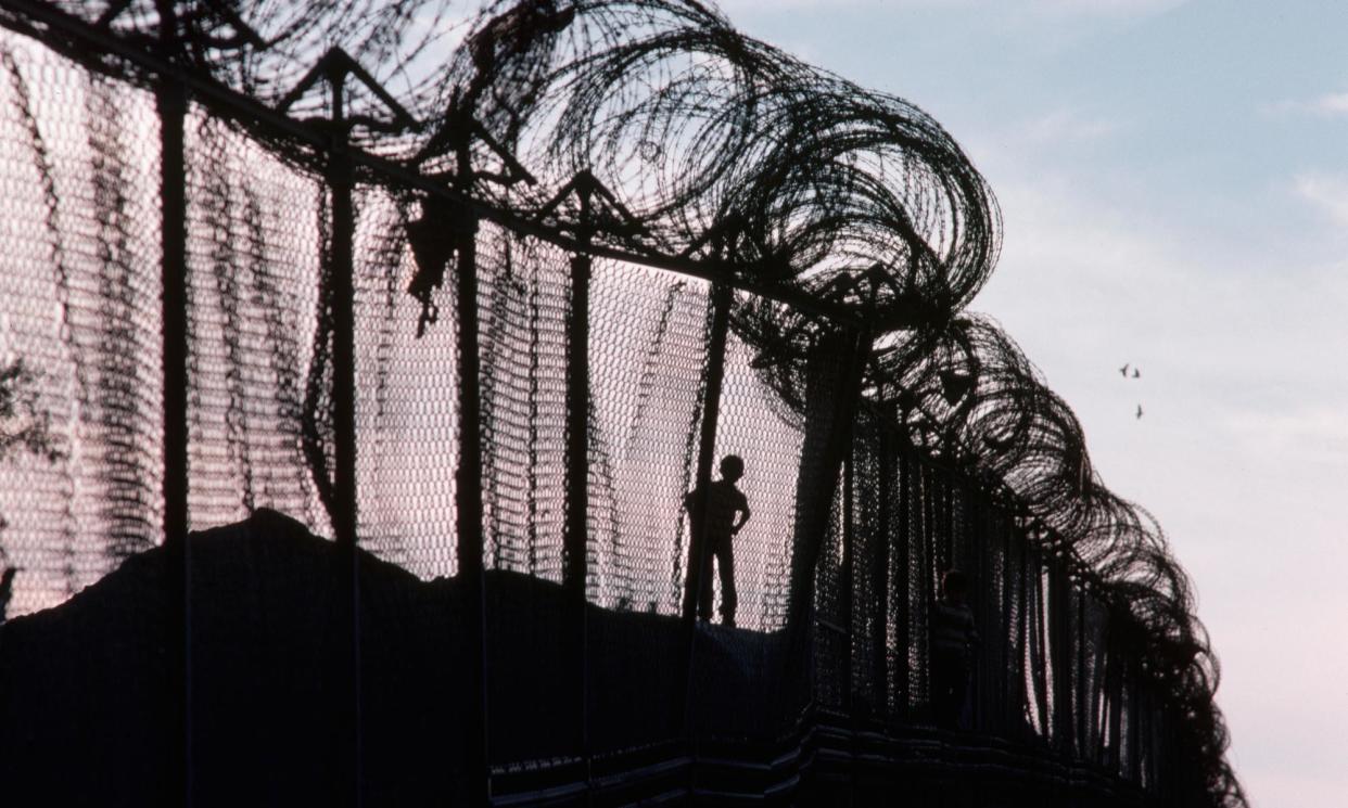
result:
[[[187,121],[190,525],[267,506],[332,535],[305,455],[306,407],[326,401],[309,397],[324,186],[201,110]]]

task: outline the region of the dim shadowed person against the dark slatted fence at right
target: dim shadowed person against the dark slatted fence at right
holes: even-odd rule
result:
[[[931,708],[936,723],[964,729],[979,630],[965,601],[969,580],[960,570],[941,576],[941,599],[931,607]]]

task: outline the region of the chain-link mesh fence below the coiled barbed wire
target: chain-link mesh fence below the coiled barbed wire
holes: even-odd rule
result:
[[[288,754],[293,780],[328,777],[333,800],[353,782],[369,804],[650,796],[623,790],[634,777],[714,801],[729,764],[704,758],[776,761],[754,782],[785,788],[813,758],[780,749],[826,745],[818,726],[1010,743],[1070,769],[1062,788],[1178,793],[1178,712],[1143,629],[1004,483],[914,438],[913,393],[872,376],[867,323],[592,244],[621,217],[612,203],[605,224],[588,175],[578,224],[549,229],[402,164],[353,166],[332,121],[284,119],[279,148],[220,92],[183,119],[175,334],[174,77],[156,109],[96,67],[0,36],[4,416],[35,435],[0,465],[7,615],[28,615],[0,633],[0,738],[32,715],[11,694],[54,669],[34,661],[57,649],[43,626],[78,619],[63,641],[109,644],[90,664],[135,681],[81,704],[121,687],[125,710],[89,707],[112,723],[154,704],[135,737],[177,761],[167,788],[189,797],[248,800],[213,761]],[[807,343],[790,361],[752,325],[772,307],[795,329],[783,342]],[[173,339],[181,377],[163,370]],[[177,547],[174,479],[194,531]],[[705,527],[732,490],[749,513],[733,541]],[[952,570],[967,610],[942,593]],[[952,610],[968,615],[958,664]],[[257,710],[288,729],[251,738]],[[0,772],[55,778],[50,723]],[[119,772],[132,790],[166,777]]]

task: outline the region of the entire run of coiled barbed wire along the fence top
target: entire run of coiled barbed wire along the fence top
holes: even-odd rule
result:
[[[1105,489],[1070,408],[1010,338],[960,315],[996,263],[1000,217],[981,175],[922,110],[744,36],[692,0],[499,1],[443,62],[419,61],[430,39],[412,28],[417,15],[390,13],[433,0],[201,0],[181,18],[201,36],[177,55],[147,38],[163,1],[84,11],[5,0],[0,24],[104,74],[142,85],[175,75],[212,113],[309,170],[325,167],[332,133],[279,112],[298,108],[303,90],[275,88],[303,86],[314,70],[355,74],[391,114],[349,117],[364,129],[346,149],[360,180],[458,203],[573,252],[586,240],[577,211],[551,203],[586,172],[605,189],[592,195],[612,222],[585,252],[748,292],[732,327],[787,401],[801,399],[814,334],[872,330],[883,353],[869,373],[898,393],[891,428],[1004,486],[1097,576],[1080,579],[1126,605],[1165,702],[1197,716],[1185,720],[1194,777],[1243,804],[1212,702],[1216,660],[1163,532]],[[291,81],[310,63],[298,55],[333,43],[349,47]],[[430,66],[396,100],[377,89],[418,65]],[[472,110],[470,124],[456,106]],[[458,175],[460,144],[446,137],[464,125],[480,166],[472,176]],[[706,249],[713,233],[718,255]],[[852,280],[875,267],[883,277],[868,310]]]

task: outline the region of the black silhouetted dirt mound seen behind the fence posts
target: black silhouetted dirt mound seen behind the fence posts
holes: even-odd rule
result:
[[[350,558],[279,513],[193,533],[190,738],[198,805],[341,801],[353,720]],[[462,785],[464,588],[365,552],[360,568],[368,805],[443,805]],[[181,792],[181,555],[155,548],[62,606],[0,628],[0,804],[150,805]],[[487,576],[492,760],[578,754],[578,621],[558,584]],[[677,618],[590,607],[589,746],[677,738],[687,637]],[[694,725],[782,726],[807,683],[782,634],[698,632]],[[175,676],[175,673],[178,673]],[[768,683],[768,685],[764,685]],[[790,696],[790,698],[787,698]]]

